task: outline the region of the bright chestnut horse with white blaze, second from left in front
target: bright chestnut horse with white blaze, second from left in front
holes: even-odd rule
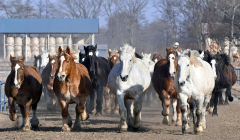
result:
[[[76,103],[76,120],[73,129],[81,128],[79,115],[82,120],[87,120],[89,115],[84,108],[88,94],[91,92],[92,83],[88,70],[80,63],[74,62],[75,56],[67,47],[65,51],[58,48],[58,70],[53,83],[53,91],[62,108],[63,131],[70,131],[72,120],[68,114],[68,104]]]

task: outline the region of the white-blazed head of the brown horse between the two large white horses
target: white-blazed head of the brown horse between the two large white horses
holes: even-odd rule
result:
[[[166,51],[167,51],[167,60],[170,63],[169,75],[171,78],[174,78],[178,70],[176,49],[167,47]]]

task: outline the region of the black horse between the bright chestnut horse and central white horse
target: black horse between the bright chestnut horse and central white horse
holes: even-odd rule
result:
[[[97,45],[84,46],[86,58],[82,64],[88,69],[91,81],[92,81],[92,91],[90,93],[90,108],[87,110],[92,113],[94,110],[94,98],[97,95],[96,100],[96,116],[102,115],[102,103],[103,95],[105,94],[105,89],[107,86],[107,78],[110,72],[110,65],[107,59],[103,57],[97,57],[95,52],[97,50]]]

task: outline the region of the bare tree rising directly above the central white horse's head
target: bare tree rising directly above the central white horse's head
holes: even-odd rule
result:
[[[148,0],[119,0],[117,1],[117,7],[120,12],[125,13],[125,17],[130,21],[127,25],[129,32],[129,44],[133,45],[134,41],[134,28],[135,23],[139,22],[144,16],[144,8],[148,4]]]

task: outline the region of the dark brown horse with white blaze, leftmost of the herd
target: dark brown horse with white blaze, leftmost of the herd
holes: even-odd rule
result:
[[[30,120],[32,128],[38,128],[39,120],[36,115],[37,104],[42,94],[42,78],[40,71],[33,66],[24,65],[25,57],[16,58],[10,55],[11,73],[7,77],[5,93],[8,97],[9,117],[17,119],[15,105],[21,109],[23,117],[22,130],[30,130],[29,117],[32,107],[33,117]]]

